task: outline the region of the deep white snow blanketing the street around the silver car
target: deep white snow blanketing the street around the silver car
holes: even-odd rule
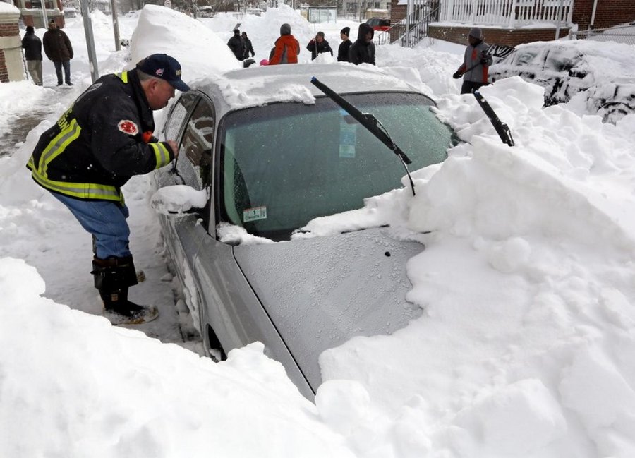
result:
[[[314,26],[296,14],[243,18],[256,61],[284,22],[306,45]],[[100,73],[155,50],[182,59],[186,81],[234,68],[224,43],[238,21],[228,16],[196,22],[146,6],[120,18],[122,37],[145,29],[115,52],[95,13]],[[317,27],[335,49],[344,25],[356,30]],[[507,78],[482,92],[514,135],[508,147],[476,100],[458,95],[451,75],[462,47],[378,47],[378,66],[420,75],[466,143],[413,171],[416,196],[404,181],[363,209],[308,224],[308,236],[325,236],[388,223],[426,247],[407,264],[409,300],[423,315],[393,335],[325,351],[311,402],[257,342],[222,363],[197,354],[148,176],[124,188],[131,250],[146,275],[131,299],[154,303],[161,317],[129,330],[99,316],[90,236],[24,167],[40,133],[90,84],[81,19],[65,31],[75,87],[0,85],[2,132],[33,107],[48,111],[0,157],[0,456],[635,456],[635,115],[613,125],[564,105],[542,109],[542,88]],[[44,72],[54,84],[48,61]]]

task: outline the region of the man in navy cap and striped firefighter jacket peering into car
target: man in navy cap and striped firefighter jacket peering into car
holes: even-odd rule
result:
[[[152,54],[134,70],[102,76],[42,133],[27,164],[35,182],[92,234],[91,273],[112,323],[140,324],[158,315],[155,307],[128,301],[128,287],[137,277],[121,186],[179,154],[174,140],[152,136],[152,111],[165,107],[175,89],[189,90],[181,65],[167,54]]]

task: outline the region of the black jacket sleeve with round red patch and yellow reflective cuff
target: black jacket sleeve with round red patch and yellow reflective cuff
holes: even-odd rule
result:
[[[174,152],[167,143],[143,141],[133,100],[109,97],[103,109],[92,110],[88,128],[95,158],[112,174],[147,174],[174,159]]]

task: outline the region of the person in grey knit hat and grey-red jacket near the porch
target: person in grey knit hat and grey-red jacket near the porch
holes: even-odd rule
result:
[[[492,56],[488,53],[489,46],[483,42],[483,31],[473,27],[468,35],[469,45],[465,49],[463,64],[452,78],[463,76],[461,94],[470,94],[481,86],[488,84],[488,70],[492,65]]]

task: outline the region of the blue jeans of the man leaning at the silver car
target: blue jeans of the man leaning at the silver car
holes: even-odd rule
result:
[[[126,222],[128,207],[108,200],[79,200],[52,193],[71,210],[86,231],[92,234],[93,250],[99,259],[130,256],[130,227]]]

